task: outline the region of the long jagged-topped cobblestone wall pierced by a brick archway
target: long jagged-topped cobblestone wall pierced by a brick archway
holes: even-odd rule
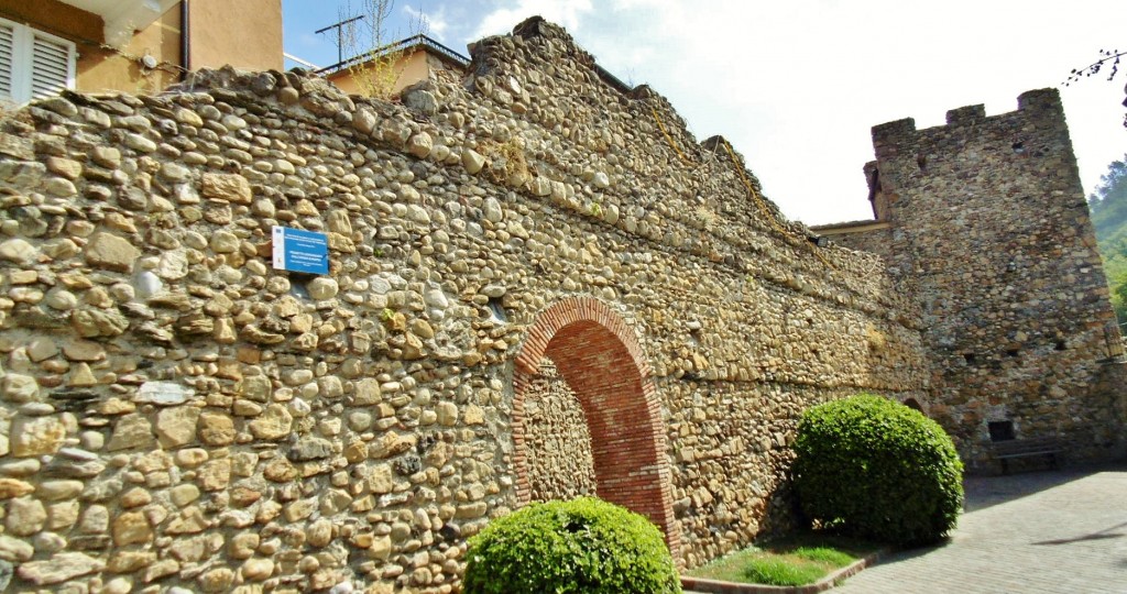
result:
[[[695,566],[784,521],[802,409],[924,398],[879,259],[775,229],[722,144],[559,27],[472,54],[403,105],[219,71],[3,123],[0,579],[456,591],[527,493],[517,358],[545,354],[601,494]],[[275,224],[328,233],[329,274],[273,269]]]

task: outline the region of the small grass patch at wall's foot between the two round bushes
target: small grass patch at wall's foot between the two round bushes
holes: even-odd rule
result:
[[[879,548],[873,542],[809,532],[748,547],[693,569],[689,575],[742,584],[804,586]]]

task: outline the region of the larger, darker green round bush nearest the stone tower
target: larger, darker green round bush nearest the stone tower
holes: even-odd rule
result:
[[[808,409],[795,442],[802,513],[900,546],[941,540],[962,508],[962,462],[934,420],[871,394]]]

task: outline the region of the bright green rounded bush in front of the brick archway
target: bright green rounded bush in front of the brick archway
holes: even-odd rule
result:
[[[657,526],[593,497],[531,504],[469,547],[465,594],[681,592]]]

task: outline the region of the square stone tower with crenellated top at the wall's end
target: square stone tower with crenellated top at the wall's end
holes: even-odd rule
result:
[[[867,171],[889,229],[818,230],[884,255],[920,300],[929,410],[964,458],[985,462],[991,422],[1067,437],[1074,459],[1121,455],[1124,389],[1106,378],[1122,348],[1057,91],[992,117],[953,109],[928,130],[890,122],[873,145]]]

